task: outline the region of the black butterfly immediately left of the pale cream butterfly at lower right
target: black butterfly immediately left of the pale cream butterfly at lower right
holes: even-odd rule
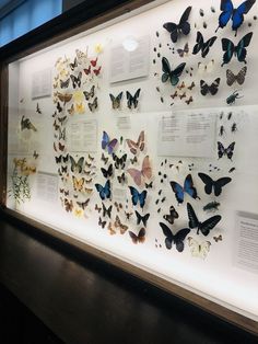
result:
[[[172,230],[163,222],[160,222],[160,226],[162,228],[163,234],[165,238],[165,245],[167,250],[172,249],[173,243],[176,245],[176,250],[178,252],[183,252],[185,249],[185,239],[189,234],[190,229],[189,228],[183,228],[180,229],[176,234],[173,234]]]

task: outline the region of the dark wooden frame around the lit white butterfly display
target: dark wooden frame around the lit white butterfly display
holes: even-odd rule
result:
[[[71,248],[86,251],[97,259],[102,259],[105,262],[121,268],[122,271],[129,272],[130,274],[201,308],[204,311],[208,311],[209,313],[258,335],[258,323],[256,321],[220,306],[219,303],[210,301],[207,298],[194,294],[183,287],[166,282],[165,279],[142,268],[94,249],[86,243],[58,232],[48,226],[5,208],[8,156],[8,64],[152,1],[153,0],[89,0],[0,49],[0,216],[2,211],[5,216],[15,218],[17,225],[28,223],[40,234],[45,233],[52,237],[55,240],[60,240],[66,244],[68,243]]]

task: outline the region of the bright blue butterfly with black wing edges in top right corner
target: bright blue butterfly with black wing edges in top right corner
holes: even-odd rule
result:
[[[247,14],[249,10],[255,4],[256,0],[244,1],[237,9],[234,9],[231,0],[221,0],[221,11],[219,16],[219,26],[216,31],[221,27],[223,28],[232,19],[232,30],[235,31],[235,36],[237,35],[237,30],[244,22],[244,14]],[[215,31],[215,32],[216,32]]]

